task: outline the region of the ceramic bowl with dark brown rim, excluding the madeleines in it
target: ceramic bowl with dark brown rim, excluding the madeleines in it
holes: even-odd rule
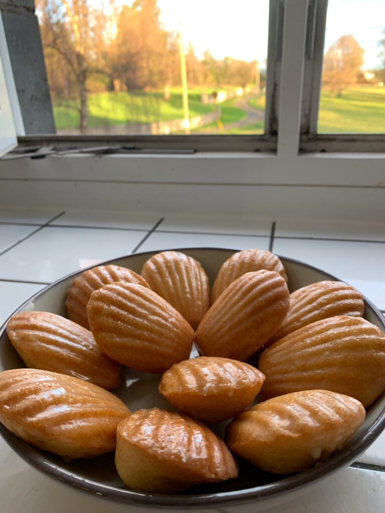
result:
[[[217,248],[180,249],[179,251],[190,255],[202,264],[211,285],[213,285],[222,263],[235,252],[232,249]],[[140,273],[144,262],[155,253],[156,251],[132,254],[103,264],[113,263]],[[288,287],[291,292],[321,280],[338,280],[338,278],[305,263],[282,257],[281,260],[287,273]],[[43,310],[66,317],[64,301],[67,289],[74,278],[82,272],[75,272],[49,285],[16,311]],[[382,314],[368,300],[365,300],[364,318],[385,331]],[[6,323],[0,331],[0,371],[24,367],[8,340],[5,326]],[[159,379],[160,375],[143,374],[126,368],[123,384],[113,392],[127,404],[131,411],[153,406],[173,409],[158,392]],[[128,489],[115,470],[114,453],[90,460],[65,462],[60,457],[35,449],[23,442],[1,423],[0,432],[13,450],[33,467],[52,478],[90,494],[131,504],[132,507],[141,506],[145,509],[165,508],[185,511],[186,509],[220,508],[220,510],[230,513],[232,511],[242,513],[242,511],[255,512],[272,507],[288,500],[293,494],[298,495],[300,492],[308,491],[312,486],[319,485],[322,480],[332,476],[337,470],[343,469],[357,460],[361,453],[374,442],[384,427],[385,393],[368,408],[364,424],[350,443],[328,461],[292,476],[269,474],[240,461],[240,473],[237,480],[195,486],[182,495],[143,494]],[[223,424],[215,429],[219,435],[223,435]]]

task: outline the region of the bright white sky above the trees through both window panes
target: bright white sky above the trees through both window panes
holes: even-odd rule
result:
[[[158,6],[165,28],[179,26],[184,44],[191,42],[199,57],[206,49],[218,60],[227,55],[262,63],[267,56],[268,0],[158,0]],[[353,34],[365,50],[363,69],[374,68],[384,28],[385,0],[329,0],[325,50]]]

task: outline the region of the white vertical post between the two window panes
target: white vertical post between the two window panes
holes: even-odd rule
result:
[[[285,2],[279,94],[279,156],[298,154],[309,0]]]

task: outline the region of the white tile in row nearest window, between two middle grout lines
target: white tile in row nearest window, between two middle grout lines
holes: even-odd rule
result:
[[[251,217],[167,214],[157,231],[269,236],[272,224]]]

